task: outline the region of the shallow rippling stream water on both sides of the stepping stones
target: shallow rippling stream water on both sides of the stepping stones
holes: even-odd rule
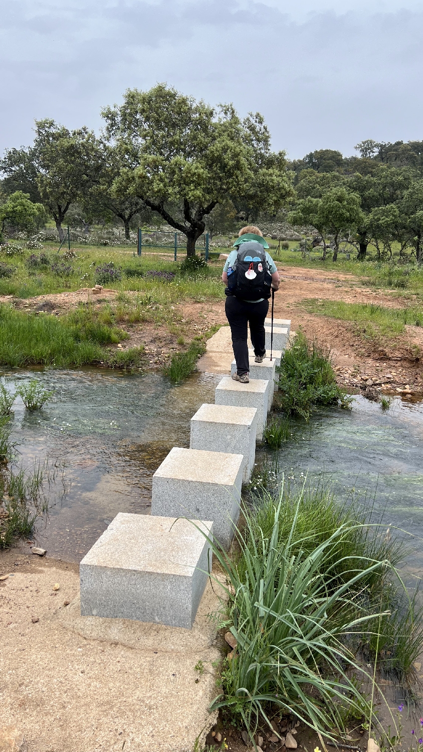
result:
[[[119,511],[149,514],[153,472],[174,446],[189,446],[189,420],[203,402],[214,402],[219,374],[192,374],[173,385],[162,374],[116,371],[16,371],[12,382],[33,378],[54,389],[41,411],[14,404],[11,438],[17,464],[35,458],[65,463],[68,492],[62,499],[57,475],[53,505],[38,523],[36,540],[50,556],[80,561]],[[423,567],[423,402],[394,399],[388,412],[361,396],[352,410],[328,408],[306,424],[277,453],[279,473],[301,487],[330,481],[341,498],[370,500],[385,509],[384,524],[412,535],[416,553],[407,569]],[[258,466],[264,454],[259,449]],[[301,475],[302,474],[302,475]],[[69,488],[70,487],[70,488]]]

